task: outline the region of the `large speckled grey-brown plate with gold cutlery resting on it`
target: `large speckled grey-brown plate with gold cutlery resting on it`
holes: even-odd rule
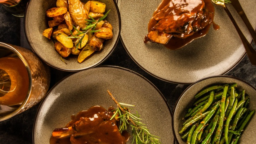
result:
[[[215,31],[195,39],[178,50],[169,50],[155,43],[144,44],[148,22],[161,0],[118,0],[121,14],[121,39],[130,57],[146,72],[158,79],[191,84],[212,75],[222,75],[235,67],[245,56],[238,33],[222,7],[215,5],[214,22],[220,26]],[[250,23],[256,27],[256,0],[240,1]],[[242,19],[227,4],[249,41]]]

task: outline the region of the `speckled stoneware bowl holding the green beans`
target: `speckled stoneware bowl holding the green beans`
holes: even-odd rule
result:
[[[179,131],[182,128],[182,123],[184,122],[182,119],[184,118],[187,110],[195,102],[194,95],[197,92],[199,92],[201,89],[205,88],[206,86],[219,84],[219,83],[237,83],[236,88],[239,89],[240,91],[245,89],[246,94],[249,95],[250,104],[248,109],[250,110],[256,109],[256,89],[250,84],[243,82],[241,80],[238,80],[237,78],[231,77],[231,76],[210,76],[210,77],[201,79],[195,82],[194,84],[191,84],[183,92],[183,94],[181,94],[174,108],[173,131],[174,131],[174,136],[177,142],[179,142],[180,144],[183,144],[183,143],[185,144],[185,142],[181,140]],[[193,103],[191,103],[191,101]],[[242,136],[240,137],[240,140],[239,140],[240,144],[256,143],[256,137],[255,137],[256,127],[254,126],[255,123],[256,123],[256,116],[254,114],[250,122],[247,123],[246,129],[243,132]]]

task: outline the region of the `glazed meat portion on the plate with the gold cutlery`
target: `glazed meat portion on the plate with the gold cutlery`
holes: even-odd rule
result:
[[[146,39],[160,44],[166,44],[172,36],[185,39],[211,24],[213,15],[204,0],[170,0],[165,6],[161,3]]]

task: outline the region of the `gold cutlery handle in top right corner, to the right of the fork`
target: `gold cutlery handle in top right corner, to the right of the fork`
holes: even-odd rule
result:
[[[247,26],[250,34],[253,37],[253,41],[256,44],[256,32],[255,29],[253,28],[252,24],[250,24],[241,4],[239,3],[238,0],[231,0],[231,4],[232,6],[235,8],[235,10],[237,11],[237,13],[240,15],[240,17],[242,18],[242,20],[244,21],[245,25]]]

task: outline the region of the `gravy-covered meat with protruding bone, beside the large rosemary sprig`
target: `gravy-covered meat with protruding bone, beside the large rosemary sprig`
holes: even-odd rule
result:
[[[125,137],[120,134],[116,120],[110,120],[112,115],[112,112],[103,107],[91,107],[79,112],[66,128],[55,129],[52,136],[56,139],[70,137],[67,141],[71,144],[125,144]],[[53,143],[59,142],[60,140]]]

